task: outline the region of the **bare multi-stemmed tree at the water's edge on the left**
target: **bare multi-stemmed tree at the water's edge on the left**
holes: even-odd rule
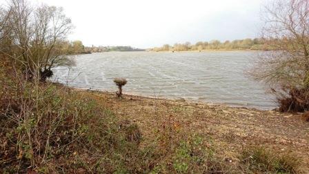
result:
[[[71,20],[62,8],[30,6],[27,1],[11,0],[8,25],[11,26],[10,55],[31,77],[45,81],[51,68],[67,64],[61,44],[72,29]]]

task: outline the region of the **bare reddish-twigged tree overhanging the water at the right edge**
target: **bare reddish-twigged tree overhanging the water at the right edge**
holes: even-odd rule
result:
[[[251,75],[270,85],[280,102],[293,98],[288,110],[295,102],[306,109],[309,98],[293,93],[307,95],[309,87],[309,1],[272,0],[264,8],[263,21],[263,41],[272,51],[261,55]]]

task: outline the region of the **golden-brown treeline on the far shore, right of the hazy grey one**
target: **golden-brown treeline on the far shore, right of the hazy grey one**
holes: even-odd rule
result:
[[[168,44],[162,47],[150,48],[150,51],[190,51],[190,50],[270,50],[269,46],[263,43],[262,39],[242,39],[234,41],[219,40],[199,41],[195,44],[190,42],[175,43],[174,46]]]

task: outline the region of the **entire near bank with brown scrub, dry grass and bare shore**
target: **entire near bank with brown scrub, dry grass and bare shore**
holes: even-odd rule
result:
[[[119,99],[28,82],[12,72],[0,74],[1,173],[308,168],[309,126],[297,115],[132,95]]]

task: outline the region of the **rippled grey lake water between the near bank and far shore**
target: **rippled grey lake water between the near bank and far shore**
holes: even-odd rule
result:
[[[74,57],[76,66],[54,68],[53,81],[75,88],[184,98],[230,106],[272,109],[277,105],[262,84],[246,77],[258,52],[102,52]]]

